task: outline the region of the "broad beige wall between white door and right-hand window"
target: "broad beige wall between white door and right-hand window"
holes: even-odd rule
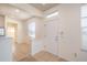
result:
[[[80,4],[59,4],[53,9],[59,12],[58,56],[67,61],[87,61],[87,52],[81,51]]]

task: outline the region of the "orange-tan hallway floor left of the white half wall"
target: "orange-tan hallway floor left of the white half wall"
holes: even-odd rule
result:
[[[13,61],[20,61],[26,56],[29,51],[29,44],[22,43],[22,44],[15,44],[15,51],[13,53]]]

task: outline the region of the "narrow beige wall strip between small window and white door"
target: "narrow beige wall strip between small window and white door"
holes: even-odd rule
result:
[[[43,18],[35,18],[35,19],[36,19],[35,21],[36,22],[36,26],[35,26],[36,37],[35,37],[34,46],[37,46],[35,47],[36,50],[35,53],[39,53],[44,50],[44,20]]]

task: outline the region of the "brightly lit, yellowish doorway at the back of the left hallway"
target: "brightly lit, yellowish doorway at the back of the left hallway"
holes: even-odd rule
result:
[[[7,23],[7,36],[12,37],[13,44],[12,44],[12,52],[15,52],[15,45],[18,42],[18,24],[14,23]]]

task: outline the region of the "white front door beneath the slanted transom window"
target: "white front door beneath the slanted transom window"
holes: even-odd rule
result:
[[[45,30],[46,50],[52,54],[58,55],[58,19],[48,20]]]

